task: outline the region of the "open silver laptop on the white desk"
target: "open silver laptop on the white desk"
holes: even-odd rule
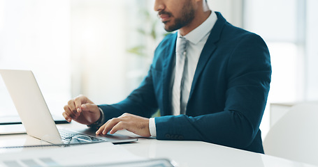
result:
[[[0,74],[29,136],[55,145],[138,141],[138,138],[120,134],[96,135],[96,129],[92,128],[80,132],[71,129],[57,129],[33,72],[0,70]]]

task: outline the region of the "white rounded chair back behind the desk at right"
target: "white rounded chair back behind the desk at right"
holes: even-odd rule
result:
[[[265,154],[318,166],[318,104],[292,106],[263,141]]]

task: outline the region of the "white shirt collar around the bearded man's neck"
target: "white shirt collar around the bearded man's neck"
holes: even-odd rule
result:
[[[208,19],[205,19],[205,21],[196,29],[192,30],[189,32],[187,35],[184,37],[189,40],[189,42],[197,44],[200,42],[206,35],[210,34],[210,31],[212,27],[214,26],[215,22],[217,22],[217,15],[211,11],[210,16]],[[180,34],[180,31],[178,31],[178,38],[182,36]]]

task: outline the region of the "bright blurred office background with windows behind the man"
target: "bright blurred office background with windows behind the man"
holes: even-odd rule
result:
[[[273,65],[269,104],[318,101],[317,0],[208,0],[232,24],[261,35]],[[33,70],[52,113],[87,95],[123,100],[143,79],[166,33],[154,0],[0,0],[0,68]],[[32,95],[30,95],[32,98]],[[0,79],[0,116],[17,115]]]

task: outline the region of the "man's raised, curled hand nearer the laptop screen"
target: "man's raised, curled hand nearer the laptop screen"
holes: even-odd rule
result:
[[[75,120],[84,125],[91,125],[99,120],[101,112],[96,104],[80,95],[68,101],[68,104],[64,106],[63,116],[68,122]]]

